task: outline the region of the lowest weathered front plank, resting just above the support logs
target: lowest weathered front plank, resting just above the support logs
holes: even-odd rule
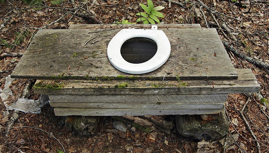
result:
[[[216,114],[222,109],[102,109],[102,108],[64,108],[54,107],[56,116],[140,116],[140,115],[194,115],[194,114]]]

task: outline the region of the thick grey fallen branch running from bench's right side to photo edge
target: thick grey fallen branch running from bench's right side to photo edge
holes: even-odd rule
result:
[[[240,51],[236,50],[235,48],[233,48],[232,45],[229,45],[226,41],[222,41],[222,43],[224,44],[224,46],[226,47],[227,50],[231,51],[236,56],[239,56],[240,58],[245,59],[248,62],[250,62],[258,67],[262,67],[262,68],[265,68],[266,70],[269,70],[269,64],[260,62],[257,59],[254,59],[252,57],[248,57],[247,55],[245,55],[245,54],[241,53]]]

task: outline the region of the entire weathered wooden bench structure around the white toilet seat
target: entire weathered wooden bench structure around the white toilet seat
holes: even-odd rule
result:
[[[34,92],[49,95],[57,116],[216,114],[224,110],[228,94],[259,91],[250,69],[234,69],[216,30],[198,24],[158,25],[170,40],[168,61],[142,75],[118,71],[107,59],[107,44],[128,27],[150,29],[151,25],[40,30],[12,77],[38,78]]]

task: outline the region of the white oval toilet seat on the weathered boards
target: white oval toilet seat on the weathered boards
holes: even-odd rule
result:
[[[122,44],[134,37],[150,38],[156,42],[157,52],[150,60],[144,63],[129,63],[123,59],[120,53]],[[162,30],[122,29],[110,40],[107,46],[109,62],[119,71],[130,74],[142,74],[156,70],[166,62],[170,52],[170,42]]]

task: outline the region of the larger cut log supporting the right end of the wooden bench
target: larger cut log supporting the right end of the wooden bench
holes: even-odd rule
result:
[[[177,132],[195,140],[218,140],[228,133],[224,111],[209,115],[176,115]]]

